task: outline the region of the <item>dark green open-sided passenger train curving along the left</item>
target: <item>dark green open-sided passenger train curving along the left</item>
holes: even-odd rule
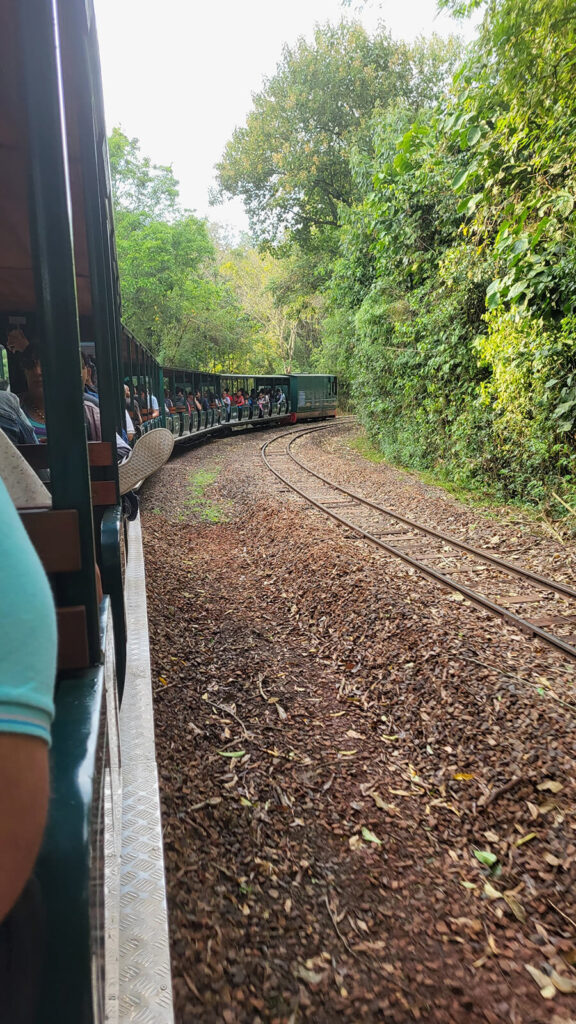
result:
[[[47,443],[20,451],[50,489],[48,505],[19,511],[58,625],[48,821],[0,924],[0,1021],[172,1024],[141,537],[123,519],[116,457],[124,381],[157,396],[145,428],[166,424],[177,443],[333,416],[336,381],[165,370],[122,329],[91,0],[0,0],[0,330],[41,344]],[[83,350],[97,366],[98,441],[86,436]],[[284,400],[191,417],[166,409],[178,387]]]

